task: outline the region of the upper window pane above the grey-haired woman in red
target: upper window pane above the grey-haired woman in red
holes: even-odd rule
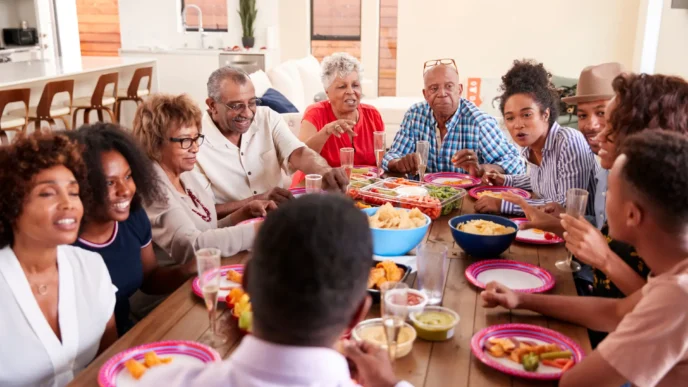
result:
[[[311,0],[311,41],[361,40],[361,0]]]

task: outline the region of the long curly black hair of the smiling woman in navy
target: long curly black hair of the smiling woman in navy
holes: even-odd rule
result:
[[[107,151],[119,152],[129,163],[136,193],[131,201],[132,211],[143,204],[164,202],[165,196],[153,164],[134,137],[116,124],[98,122],[86,124],[67,135],[85,147],[83,158],[88,168],[88,182],[92,198],[85,213],[101,214],[108,205],[108,188],[101,155]]]

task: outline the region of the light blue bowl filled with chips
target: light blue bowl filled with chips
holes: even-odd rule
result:
[[[373,216],[379,207],[364,208],[368,216]],[[410,210],[407,210],[410,211]],[[410,228],[407,230],[394,230],[384,228],[370,228],[373,233],[373,253],[383,257],[393,257],[405,255],[413,250],[425,238],[425,234],[430,227],[430,217],[425,216],[425,225],[417,228]]]

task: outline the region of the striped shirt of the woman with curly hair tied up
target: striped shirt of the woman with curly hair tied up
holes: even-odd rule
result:
[[[595,175],[599,166],[583,135],[556,122],[549,130],[542,148],[540,166],[528,162],[530,148],[521,150],[528,165],[521,175],[507,175],[504,185],[533,191],[539,199],[528,199],[532,205],[557,202],[566,205],[566,191],[581,188],[592,192],[588,198],[587,214],[594,213]],[[523,214],[521,207],[502,200],[503,214]]]

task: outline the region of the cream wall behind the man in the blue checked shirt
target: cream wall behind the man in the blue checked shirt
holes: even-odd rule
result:
[[[638,4],[399,0],[397,95],[419,95],[423,62],[435,58],[454,58],[462,79],[500,77],[521,58],[537,59],[567,77],[595,63],[617,61],[631,68]]]

